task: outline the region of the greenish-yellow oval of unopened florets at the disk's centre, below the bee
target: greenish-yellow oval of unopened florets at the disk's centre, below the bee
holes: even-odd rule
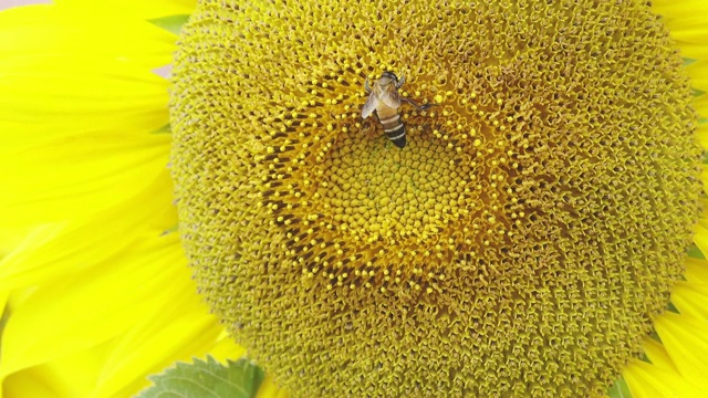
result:
[[[458,169],[455,150],[431,143],[430,134],[408,138],[407,150],[366,136],[345,139],[333,150],[324,207],[354,237],[363,229],[367,242],[379,235],[400,243],[429,239],[469,212],[465,178],[470,167]]]

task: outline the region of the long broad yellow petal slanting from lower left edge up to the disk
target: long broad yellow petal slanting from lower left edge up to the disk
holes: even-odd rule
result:
[[[87,349],[123,335],[169,307],[194,286],[174,234],[145,237],[118,256],[45,283],[11,308],[2,336],[0,376]]]

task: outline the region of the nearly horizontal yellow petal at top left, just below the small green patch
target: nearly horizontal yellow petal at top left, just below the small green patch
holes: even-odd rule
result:
[[[149,67],[171,62],[176,36],[155,24],[115,12],[41,4],[0,12],[4,59],[64,54],[126,59]]]

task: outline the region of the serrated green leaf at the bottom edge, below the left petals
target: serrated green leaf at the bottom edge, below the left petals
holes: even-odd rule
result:
[[[137,398],[253,398],[263,376],[263,371],[246,358],[229,360],[227,367],[207,357],[206,362],[177,363],[159,375],[149,376],[154,385]]]

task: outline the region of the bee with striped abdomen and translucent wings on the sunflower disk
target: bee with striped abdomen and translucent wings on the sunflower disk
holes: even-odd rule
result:
[[[406,126],[404,126],[398,115],[400,104],[406,102],[420,111],[430,107],[430,104],[418,106],[415,102],[402,97],[398,94],[398,88],[400,88],[405,81],[405,76],[402,75],[400,78],[398,78],[395,73],[386,71],[382,73],[381,78],[374,82],[374,87],[372,88],[368,85],[368,77],[366,77],[364,90],[368,93],[368,98],[366,98],[364,108],[362,108],[363,118],[367,118],[376,111],[378,122],[381,122],[384,127],[386,137],[402,149],[406,146]]]

